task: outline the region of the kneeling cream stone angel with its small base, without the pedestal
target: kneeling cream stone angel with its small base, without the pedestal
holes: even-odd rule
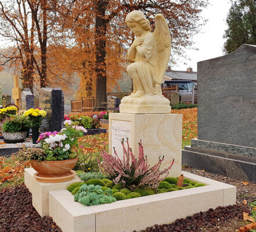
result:
[[[170,101],[162,95],[161,82],[171,52],[171,37],[162,14],[155,17],[152,33],[149,20],[140,10],[127,14],[125,22],[136,39],[128,50],[135,61],[127,67],[134,84],[134,92],[121,100],[120,113],[170,114]]]

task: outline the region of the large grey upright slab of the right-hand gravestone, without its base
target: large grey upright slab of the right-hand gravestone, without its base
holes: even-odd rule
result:
[[[197,63],[198,138],[256,147],[256,46]]]

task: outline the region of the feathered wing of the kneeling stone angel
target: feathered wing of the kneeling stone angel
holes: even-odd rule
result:
[[[153,32],[154,40],[157,44],[157,84],[161,85],[166,70],[170,52],[171,52],[171,36],[167,25],[167,21],[164,19],[163,14],[157,14],[154,18],[156,21],[156,29]]]

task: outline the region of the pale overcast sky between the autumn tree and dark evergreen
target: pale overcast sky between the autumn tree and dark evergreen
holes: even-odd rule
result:
[[[181,62],[171,66],[172,70],[186,71],[186,68],[192,67],[193,71],[197,71],[197,62],[223,56],[223,34],[227,28],[226,17],[230,6],[230,0],[210,0],[208,7],[201,13],[208,21],[201,32],[193,37],[196,42],[194,46],[199,50],[187,49],[186,55],[190,60],[180,59]]]

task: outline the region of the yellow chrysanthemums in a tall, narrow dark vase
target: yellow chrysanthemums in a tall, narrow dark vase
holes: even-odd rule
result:
[[[24,112],[25,116],[30,118],[30,127],[32,128],[32,140],[33,143],[37,143],[39,127],[42,124],[42,118],[46,116],[46,111],[41,108],[30,108]]]

